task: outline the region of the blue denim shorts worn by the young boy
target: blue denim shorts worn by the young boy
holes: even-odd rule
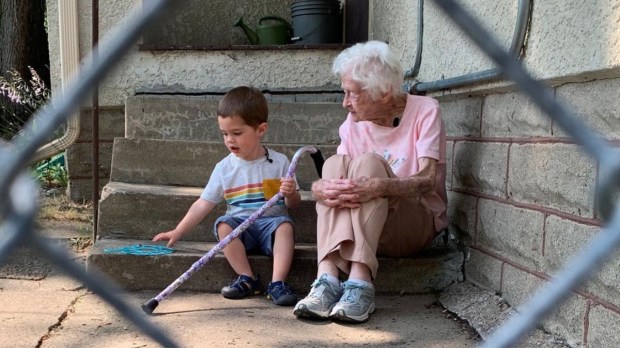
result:
[[[237,226],[241,225],[248,217],[234,217],[229,215],[220,216],[213,224],[213,234],[219,241],[217,235],[217,225],[220,222],[226,223],[233,230]],[[293,220],[290,216],[261,216],[253,224],[251,224],[245,231],[239,235],[239,239],[245,246],[245,250],[248,253],[259,252],[263,255],[273,256],[273,234],[283,222],[290,222],[293,224]]]

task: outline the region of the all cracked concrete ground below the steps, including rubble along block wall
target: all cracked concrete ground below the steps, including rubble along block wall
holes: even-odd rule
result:
[[[85,230],[51,224],[41,233],[83,265],[88,249],[76,253],[75,246]],[[154,315],[145,314],[180,347],[475,347],[480,336],[487,338],[514,314],[501,298],[467,282],[442,294],[378,296],[376,312],[359,325],[297,319],[292,307],[275,306],[262,296],[226,300],[182,289]],[[121,294],[140,313],[140,305],[155,295]],[[17,248],[0,265],[0,347],[158,346],[36,251]],[[567,345],[535,331],[520,347]]]

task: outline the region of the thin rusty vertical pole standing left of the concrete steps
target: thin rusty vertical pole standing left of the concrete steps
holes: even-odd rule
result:
[[[93,65],[98,58],[97,43],[99,42],[99,0],[92,0],[92,51]],[[99,218],[99,86],[93,87],[93,241],[97,239]]]

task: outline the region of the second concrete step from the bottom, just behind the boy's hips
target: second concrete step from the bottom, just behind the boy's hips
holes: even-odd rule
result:
[[[173,229],[202,192],[202,187],[110,182],[103,188],[99,202],[98,235],[101,238],[151,239]],[[310,192],[301,191],[302,203],[290,214],[295,221],[297,242],[316,242],[315,201]],[[213,223],[224,215],[226,206],[217,207],[183,237],[188,241],[214,241]]]

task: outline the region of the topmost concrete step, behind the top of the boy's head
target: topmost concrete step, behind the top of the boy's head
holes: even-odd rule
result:
[[[125,102],[125,136],[221,141],[217,103],[221,96],[137,95]],[[264,141],[337,144],[347,112],[337,102],[269,102]]]

